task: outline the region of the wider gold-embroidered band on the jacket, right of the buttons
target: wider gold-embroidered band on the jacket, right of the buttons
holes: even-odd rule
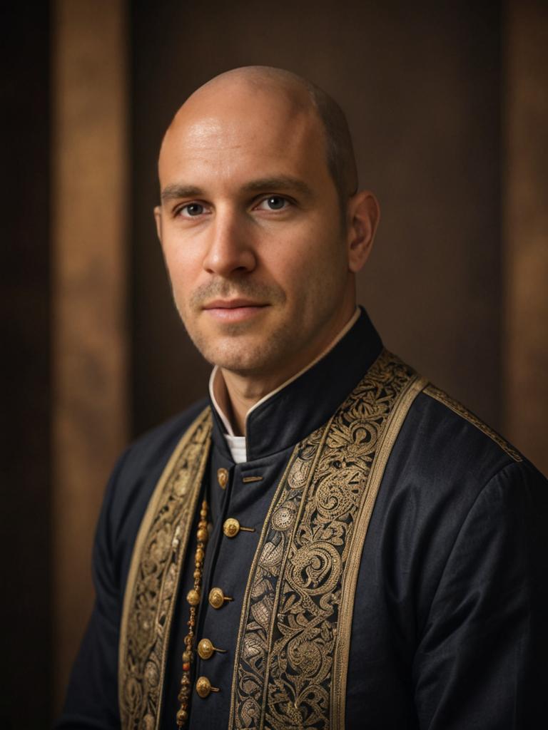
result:
[[[295,447],[246,588],[229,728],[342,730],[362,545],[392,444],[424,385],[384,351],[327,426]]]

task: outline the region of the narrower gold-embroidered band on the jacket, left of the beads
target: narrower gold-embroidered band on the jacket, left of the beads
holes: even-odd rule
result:
[[[208,461],[209,408],[190,426],[153,493],[134,545],[121,623],[118,694],[124,730],[153,730],[181,566]]]

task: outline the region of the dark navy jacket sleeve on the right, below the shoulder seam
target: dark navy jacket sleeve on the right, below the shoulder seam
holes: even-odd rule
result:
[[[544,726],[547,496],[539,472],[512,463],[465,516],[414,656],[422,730]]]

